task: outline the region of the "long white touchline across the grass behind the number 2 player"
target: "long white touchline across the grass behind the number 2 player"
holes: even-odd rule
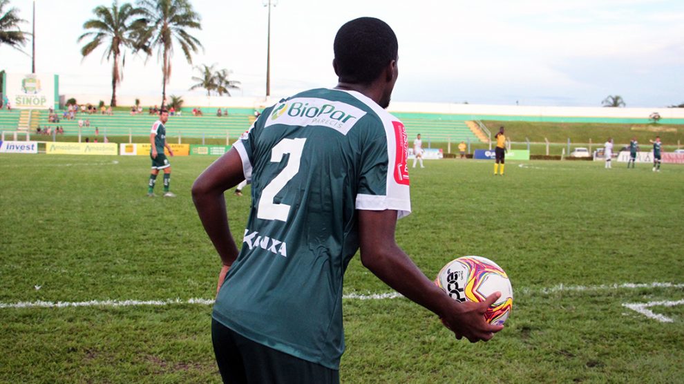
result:
[[[614,285],[556,285],[549,288],[521,288],[517,291],[522,294],[549,294],[553,292],[562,291],[605,291],[605,290],[617,290],[617,289],[640,289],[640,288],[684,288],[684,283],[676,284],[672,282],[650,282],[650,283],[623,283]],[[350,300],[385,300],[392,298],[403,297],[397,292],[386,292],[381,294],[345,294],[342,298]],[[684,301],[684,300],[682,300]],[[169,299],[169,300],[90,300],[90,301],[23,301],[19,303],[0,303],[0,309],[5,308],[66,308],[66,307],[133,307],[142,305],[151,306],[164,306],[164,305],[183,305],[183,304],[200,304],[200,305],[211,305],[213,304],[213,299],[205,298],[190,298],[187,300],[181,300],[180,298]],[[679,303],[674,305],[680,305],[680,302],[667,302],[667,303]],[[649,303],[650,304],[650,303]],[[637,304],[635,304],[637,305]],[[647,305],[655,306],[655,305]],[[627,305],[625,305],[627,307]],[[635,309],[636,310],[636,309]]]

